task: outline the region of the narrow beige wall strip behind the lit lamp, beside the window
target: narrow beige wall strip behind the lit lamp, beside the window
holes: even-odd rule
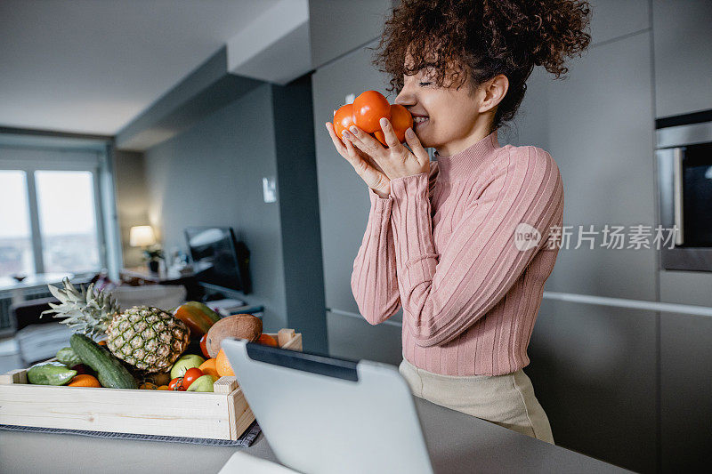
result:
[[[143,154],[117,150],[114,153],[114,173],[124,266],[142,265],[142,250],[128,244],[132,227],[149,224],[149,198]]]

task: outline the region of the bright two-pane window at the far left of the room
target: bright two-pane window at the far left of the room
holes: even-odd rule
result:
[[[0,149],[0,277],[106,267],[98,177],[97,152]]]

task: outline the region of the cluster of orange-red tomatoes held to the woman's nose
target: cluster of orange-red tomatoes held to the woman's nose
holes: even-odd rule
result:
[[[413,126],[413,116],[408,108],[398,104],[389,104],[381,92],[366,91],[360,94],[352,104],[346,104],[334,112],[334,131],[339,139],[341,133],[356,125],[361,130],[385,143],[385,136],[381,130],[381,118],[391,121],[393,131],[398,140],[406,140],[406,130]]]

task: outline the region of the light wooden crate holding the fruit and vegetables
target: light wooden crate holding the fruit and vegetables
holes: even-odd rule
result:
[[[302,350],[301,333],[269,334]],[[221,377],[211,393],[32,385],[25,369],[0,375],[0,424],[237,439],[254,421],[235,377]]]

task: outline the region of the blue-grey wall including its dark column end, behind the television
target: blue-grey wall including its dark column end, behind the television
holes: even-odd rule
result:
[[[250,250],[250,304],[266,331],[292,327],[326,352],[309,77],[263,84],[145,153],[150,222],[166,250],[183,229],[230,226]],[[301,120],[295,120],[300,116]],[[264,203],[263,177],[277,181]]]

